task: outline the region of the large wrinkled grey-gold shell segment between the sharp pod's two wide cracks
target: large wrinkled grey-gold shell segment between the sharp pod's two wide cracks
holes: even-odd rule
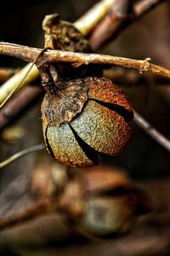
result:
[[[121,153],[131,136],[122,116],[94,101],[88,101],[71,126],[85,143],[105,154]]]

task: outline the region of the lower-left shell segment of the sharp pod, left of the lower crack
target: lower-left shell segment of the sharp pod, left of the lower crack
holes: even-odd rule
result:
[[[48,127],[47,137],[54,156],[60,163],[66,166],[93,166],[93,162],[88,160],[78,145],[69,125]]]

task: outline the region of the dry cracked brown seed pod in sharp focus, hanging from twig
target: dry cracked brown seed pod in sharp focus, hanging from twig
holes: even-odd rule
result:
[[[42,102],[42,131],[48,152],[66,166],[98,164],[97,152],[116,155],[131,137],[133,109],[110,79],[59,81]]]

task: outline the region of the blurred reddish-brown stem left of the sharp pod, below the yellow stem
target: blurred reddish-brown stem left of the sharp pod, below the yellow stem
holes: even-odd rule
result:
[[[0,130],[20,114],[21,110],[35,102],[42,92],[42,86],[28,85],[14,95],[0,110]]]

